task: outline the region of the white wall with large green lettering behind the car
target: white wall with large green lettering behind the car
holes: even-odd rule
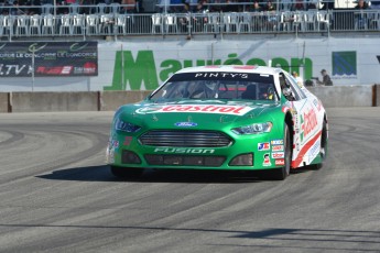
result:
[[[278,66],[304,79],[321,79],[324,68],[335,86],[368,86],[380,82],[379,45],[380,37],[101,41],[97,77],[0,78],[0,92],[152,90],[183,67],[216,64]]]

